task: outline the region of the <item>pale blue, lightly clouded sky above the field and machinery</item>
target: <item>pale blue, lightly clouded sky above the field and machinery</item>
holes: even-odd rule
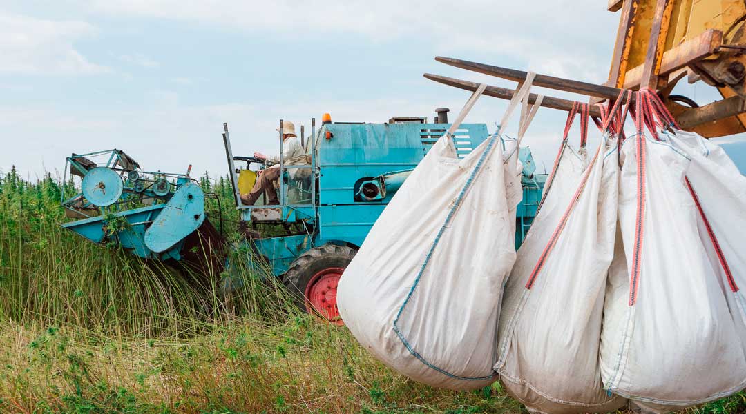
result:
[[[424,72],[515,83],[436,55],[603,83],[618,13],[598,0],[0,0],[0,171],[61,174],[70,153],[119,148],[146,171],[227,172],[233,153],[278,153],[280,118],[451,118],[469,92]],[[680,91],[679,89],[683,89]],[[587,98],[537,89],[564,98]],[[704,104],[707,86],[677,86]],[[481,98],[489,130],[507,102]],[[542,109],[524,143],[551,165],[565,113]],[[513,132],[517,128],[512,124]],[[511,131],[510,127],[508,129]],[[731,138],[742,141],[742,138]],[[549,167],[547,167],[549,168]]]

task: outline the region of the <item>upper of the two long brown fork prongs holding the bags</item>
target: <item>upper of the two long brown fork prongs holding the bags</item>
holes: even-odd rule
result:
[[[435,60],[446,65],[456,66],[457,68],[475,71],[483,74],[489,74],[495,77],[501,77],[515,82],[522,82],[526,79],[527,73],[515,69],[501,68],[500,66],[485,65],[484,63],[469,62],[468,60],[455,59],[453,57],[436,56]],[[579,80],[564,79],[546,74],[536,74],[533,78],[533,84],[545,88],[557,89],[559,91],[573,92],[581,95],[597,96],[599,98],[615,99],[619,96],[620,89],[610,86],[597,85],[595,83],[580,82]],[[570,101],[568,101],[570,102]]]

